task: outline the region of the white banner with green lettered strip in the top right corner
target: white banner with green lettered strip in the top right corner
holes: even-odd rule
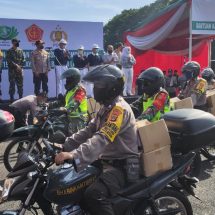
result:
[[[215,34],[215,0],[192,0],[192,34]]]

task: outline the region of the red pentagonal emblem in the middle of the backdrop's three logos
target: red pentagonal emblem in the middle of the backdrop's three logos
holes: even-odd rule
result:
[[[37,40],[41,40],[43,37],[43,30],[33,24],[25,30],[26,36],[29,42],[35,42]]]

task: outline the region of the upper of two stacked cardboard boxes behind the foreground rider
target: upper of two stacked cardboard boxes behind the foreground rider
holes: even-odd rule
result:
[[[137,122],[137,129],[144,153],[171,144],[169,132],[163,119],[153,123],[141,120]]]

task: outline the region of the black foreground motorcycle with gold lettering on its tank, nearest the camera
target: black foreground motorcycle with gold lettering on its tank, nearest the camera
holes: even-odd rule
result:
[[[75,163],[68,161],[68,166],[50,170],[58,149],[47,140],[43,140],[43,143],[47,148],[43,158],[35,159],[25,151],[19,154],[16,165],[4,181],[1,203],[21,201],[21,204],[16,210],[1,211],[0,214],[24,215],[26,211],[38,214],[41,209],[45,215],[89,215],[83,195],[100,175],[99,165],[92,164],[76,172]],[[141,178],[120,190],[111,198],[115,214],[192,215],[191,204],[184,192],[195,196],[193,187],[198,180],[184,173],[194,156],[189,153],[171,170]]]

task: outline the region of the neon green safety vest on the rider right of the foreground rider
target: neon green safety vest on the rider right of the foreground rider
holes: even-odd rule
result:
[[[162,92],[162,91],[160,91],[160,92]],[[160,92],[159,92],[159,93],[160,93]],[[164,91],[163,91],[163,92],[164,92]],[[145,111],[145,110],[147,110],[149,107],[153,106],[154,100],[156,99],[156,97],[158,96],[159,93],[155,94],[154,96],[148,98],[147,101],[144,101],[144,102],[143,102],[143,111]],[[166,92],[164,92],[164,93],[166,93]],[[163,114],[165,114],[165,113],[167,113],[167,112],[170,111],[169,102],[170,102],[170,97],[169,97],[169,95],[168,95],[168,103],[165,104],[164,110],[158,111],[158,112],[156,113],[156,115],[153,117],[153,119],[151,120],[151,122],[158,121],[158,120],[161,118],[161,116],[162,116]]]

